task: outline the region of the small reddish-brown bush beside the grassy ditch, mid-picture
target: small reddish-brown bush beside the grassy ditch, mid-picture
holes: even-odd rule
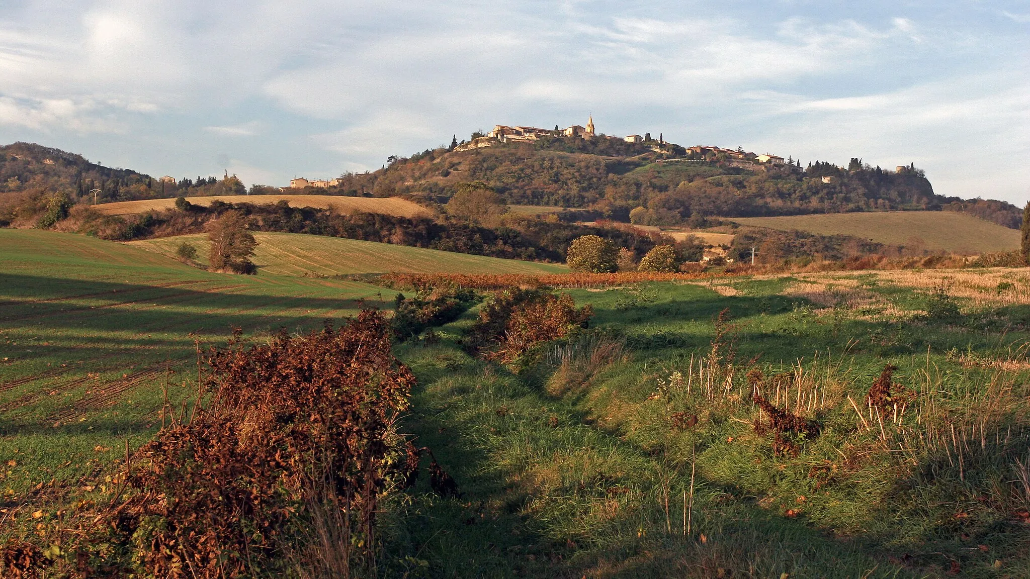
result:
[[[509,363],[538,342],[586,328],[592,315],[589,305],[577,309],[568,294],[506,290],[483,306],[479,319],[465,337],[465,344],[488,360]]]

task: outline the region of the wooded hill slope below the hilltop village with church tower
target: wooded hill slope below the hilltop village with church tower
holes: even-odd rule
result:
[[[1008,228],[1019,228],[1022,220],[1021,209],[1010,203],[935,194],[914,166],[886,170],[860,159],[852,159],[848,168],[825,162],[806,168],[761,165],[690,159],[673,143],[600,146],[610,142],[548,137],[471,150],[426,149],[391,158],[373,172],[345,174],[338,189],[348,195],[412,195],[444,202],[459,183],[482,181],[509,204],[588,208],[596,217],[653,226],[691,218],[699,225],[717,215],[897,210],[969,212]]]

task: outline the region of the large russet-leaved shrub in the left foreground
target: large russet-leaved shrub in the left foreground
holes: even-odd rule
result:
[[[183,408],[127,461],[108,504],[65,521],[58,543],[68,554],[54,571],[374,574],[378,501],[414,482],[419,455],[394,429],[415,379],[390,337],[388,320],[366,310],[305,338],[198,351],[209,369],[198,402],[208,402],[190,418]],[[0,575],[34,577],[40,552],[9,544]]]

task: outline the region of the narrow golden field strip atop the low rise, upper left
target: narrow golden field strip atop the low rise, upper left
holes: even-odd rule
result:
[[[315,207],[328,209],[336,207],[342,213],[364,211],[366,213],[383,213],[400,217],[428,216],[432,212],[417,203],[412,203],[398,197],[373,199],[369,197],[343,197],[338,195],[218,195],[212,197],[187,197],[194,205],[208,206],[215,199],[226,203],[253,203],[269,205],[279,201],[288,201],[290,207]],[[174,199],[147,199],[143,201],[119,201],[104,203],[94,207],[105,215],[133,215],[150,210],[162,211],[175,206]]]

